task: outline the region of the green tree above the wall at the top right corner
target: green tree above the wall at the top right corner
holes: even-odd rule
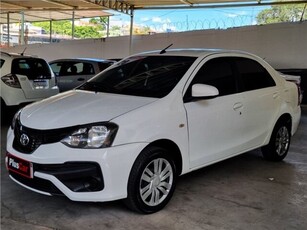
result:
[[[257,24],[297,22],[307,19],[306,4],[275,5],[257,15]]]

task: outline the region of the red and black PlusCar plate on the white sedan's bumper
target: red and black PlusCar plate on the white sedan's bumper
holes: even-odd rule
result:
[[[19,157],[7,154],[6,165],[9,171],[27,178],[33,178],[33,164]]]

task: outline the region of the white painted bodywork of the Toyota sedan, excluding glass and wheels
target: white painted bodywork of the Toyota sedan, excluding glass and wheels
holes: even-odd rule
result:
[[[139,56],[146,55],[161,54],[153,52]],[[291,134],[295,133],[301,112],[296,86],[284,80],[260,58],[224,50],[177,50],[163,55],[197,58],[165,97],[74,90],[29,105],[21,112],[21,124],[37,130],[113,122],[119,128],[111,147],[79,149],[57,142],[41,145],[33,153],[24,154],[13,147],[15,134],[9,129],[8,153],[37,164],[96,162],[104,178],[102,191],[73,192],[56,177],[40,171],[35,171],[34,177],[50,181],[71,200],[109,201],[127,197],[131,168],[140,152],[155,141],[168,140],[178,147],[182,159],[180,174],[185,174],[268,144],[274,126],[283,114],[290,114]],[[270,73],[276,86],[185,103],[185,92],[197,70],[216,57],[257,60]],[[201,94],[209,88],[198,87],[197,90]],[[214,90],[208,92],[207,96],[214,95]]]

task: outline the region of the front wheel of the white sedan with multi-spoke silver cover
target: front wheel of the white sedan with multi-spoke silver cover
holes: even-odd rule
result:
[[[130,172],[126,206],[145,214],[161,210],[173,195],[176,179],[174,160],[165,149],[144,149]]]

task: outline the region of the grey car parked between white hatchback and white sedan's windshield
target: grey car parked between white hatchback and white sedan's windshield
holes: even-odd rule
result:
[[[116,61],[94,58],[58,59],[49,62],[61,92],[73,89]]]

